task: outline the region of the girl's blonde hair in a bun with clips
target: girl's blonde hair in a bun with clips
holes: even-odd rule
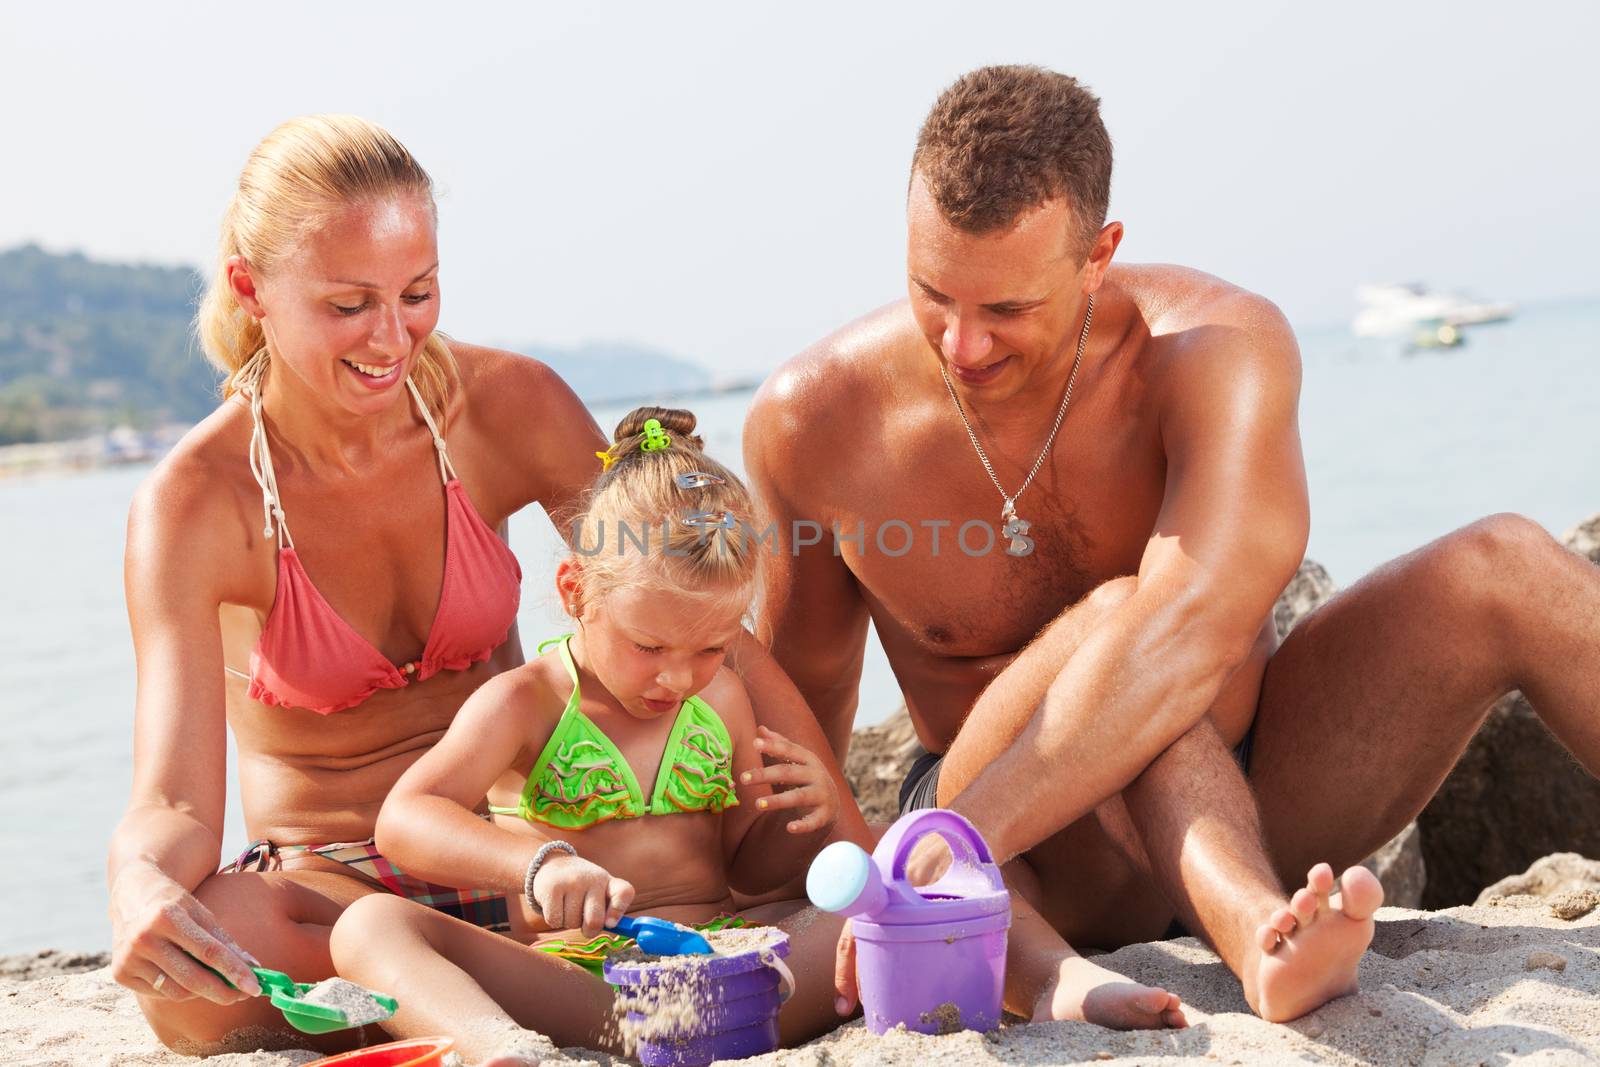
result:
[[[651,419],[659,429],[646,427]],[[694,426],[682,408],[635,408],[598,453],[603,474],[573,526],[584,601],[629,585],[704,595],[749,613],[760,574],[755,501],[704,453]]]

